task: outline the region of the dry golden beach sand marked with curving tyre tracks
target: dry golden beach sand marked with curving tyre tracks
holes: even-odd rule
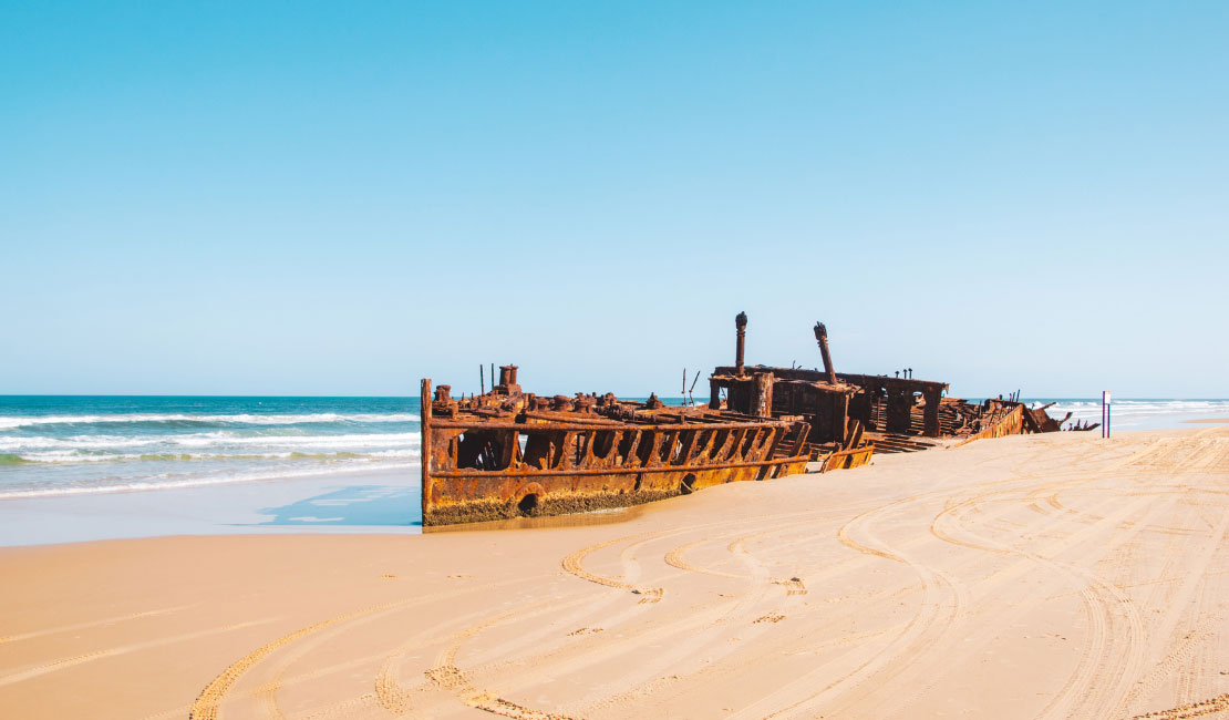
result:
[[[6,548],[0,718],[1224,716],[1227,530],[1204,428],[603,525]]]

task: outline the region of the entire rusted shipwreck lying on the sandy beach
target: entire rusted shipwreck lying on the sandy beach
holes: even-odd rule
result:
[[[468,398],[424,378],[423,525],[626,507],[736,480],[853,468],[875,452],[1061,428],[1018,397],[950,398],[948,383],[914,380],[912,370],[836,372],[822,323],[822,369],[747,366],[746,327],[739,313],[735,364],[709,376],[707,404],[536,396],[522,392],[515,365],[499,369],[498,383],[492,366],[490,389]]]

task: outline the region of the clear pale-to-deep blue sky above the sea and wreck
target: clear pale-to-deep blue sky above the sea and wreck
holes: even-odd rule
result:
[[[1229,397],[1229,2],[0,2],[0,392]],[[703,382],[701,387],[704,387]]]

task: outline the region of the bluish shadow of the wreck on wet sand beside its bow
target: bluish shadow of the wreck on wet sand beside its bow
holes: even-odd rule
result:
[[[423,525],[417,487],[350,485],[281,507],[264,507],[259,512],[273,516],[270,520],[256,523],[259,526],[420,527]]]

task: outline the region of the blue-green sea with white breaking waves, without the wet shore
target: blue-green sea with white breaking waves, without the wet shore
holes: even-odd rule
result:
[[[1100,399],[1051,415],[1100,419]],[[0,500],[388,469],[418,474],[418,398],[0,397]],[[1113,429],[1229,417],[1225,399],[1122,399]]]

